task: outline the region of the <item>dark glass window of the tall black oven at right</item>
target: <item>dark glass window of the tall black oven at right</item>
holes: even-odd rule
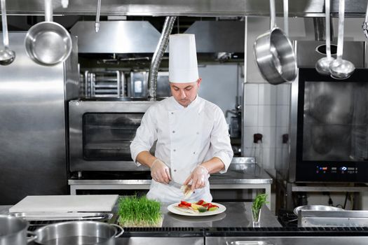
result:
[[[368,83],[306,81],[303,160],[368,160]]]

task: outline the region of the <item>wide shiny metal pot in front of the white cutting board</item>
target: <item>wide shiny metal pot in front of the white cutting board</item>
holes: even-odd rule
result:
[[[36,230],[36,244],[114,245],[124,230],[118,225],[97,221],[69,221],[46,225]],[[1,244],[2,245],[2,244]]]

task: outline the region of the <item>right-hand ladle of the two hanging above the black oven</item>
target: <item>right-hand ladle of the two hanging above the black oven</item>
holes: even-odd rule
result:
[[[345,0],[339,1],[339,36],[337,37],[336,59],[329,64],[331,77],[335,79],[346,79],[355,70],[350,61],[343,59],[343,21],[345,13]]]

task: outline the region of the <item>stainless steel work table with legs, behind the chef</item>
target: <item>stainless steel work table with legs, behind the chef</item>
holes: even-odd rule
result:
[[[225,174],[210,176],[212,190],[263,189],[268,195],[268,209],[271,209],[272,182],[271,176],[257,164],[241,161],[232,162]],[[70,194],[76,195],[76,190],[149,190],[151,179],[69,179],[68,184]],[[255,195],[254,192],[253,195]]]

